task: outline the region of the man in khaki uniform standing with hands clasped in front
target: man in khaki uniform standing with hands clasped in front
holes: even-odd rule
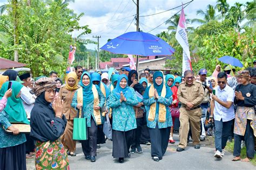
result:
[[[200,148],[200,104],[204,99],[204,88],[199,81],[194,81],[194,73],[186,70],[184,73],[185,82],[181,82],[178,88],[178,100],[181,102],[180,108],[180,143],[178,152],[184,151],[187,146],[187,134],[191,127],[194,148]]]

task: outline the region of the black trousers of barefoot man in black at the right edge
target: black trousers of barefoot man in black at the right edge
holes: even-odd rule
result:
[[[250,126],[251,120],[247,119],[245,136],[234,134],[234,157],[238,157],[241,154],[241,140],[245,140],[246,155],[247,158],[254,158],[254,134],[253,129]]]

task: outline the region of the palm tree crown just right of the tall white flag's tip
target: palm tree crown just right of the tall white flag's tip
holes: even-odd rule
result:
[[[204,16],[204,19],[198,19],[198,18],[195,18],[195,19],[192,19],[191,22],[192,23],[199,23],[199,24],[205,24],[205,23],[208,23],[210,22],[211,20],[216,20],[218,19],[218,16],[216,15],[216,12],[215,12],[215,9],[214,9],[214,6],[213,5],[207,5],[207,9],[205,11],[203,10],[198,10],[197,11],[197,15],[202,15]]]

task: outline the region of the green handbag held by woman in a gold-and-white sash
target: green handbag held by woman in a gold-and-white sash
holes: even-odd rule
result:
[[[87,125],[86,118],[84,117],[83,111],[81,117],[79,118],[79,110],[77,112],[77,117],[74,118],[73,125],[73,140],[87,140]]]

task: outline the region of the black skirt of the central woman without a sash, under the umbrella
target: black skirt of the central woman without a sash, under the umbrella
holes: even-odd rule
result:
[[[133,138],[133,129],[129,131],[112,130],[113,150],[112,156],[114,158],[126,158],[130,153],[130,147]]]

